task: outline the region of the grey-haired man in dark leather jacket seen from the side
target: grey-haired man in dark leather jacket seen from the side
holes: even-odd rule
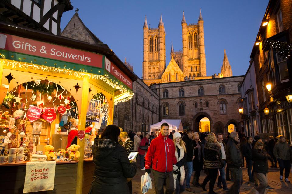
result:
[[[230,169],[231,175],[233,177],[233,185],[231,189],[227,192],[230,194],[239,194],[241,179],[242,179],[242,155],[240,152],[238,144],[238,134],[237,132],[231,132],[229,136],[229,141],[226,145],[226,162]]]

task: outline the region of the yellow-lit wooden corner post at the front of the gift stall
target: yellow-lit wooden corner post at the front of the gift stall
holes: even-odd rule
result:
[[[86,123],[86,112],[87,112],[87,97],[88,97],[88,88],[89,88],[89,78],[87,75],[83,77],[83,86],[82,86],[82,98],[81,100],[81,110],[79,112],[79,123],[78,130],[85,130]],[[76,194],[82,194],[82,183],[83,183],[83,159],[84,159],[84,138],[80,141],[78,139],[77,144],[80,146],[79,152],[79,162],[77,166],[77,185],[76,185]]]

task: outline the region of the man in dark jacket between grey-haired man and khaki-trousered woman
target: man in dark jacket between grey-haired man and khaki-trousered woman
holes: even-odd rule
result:
[[[249,181],[254,182],[252,175],[252,137],[247,137],[247,143],[242,147],[242,154],[245,157],[247,174],[249,175]]]

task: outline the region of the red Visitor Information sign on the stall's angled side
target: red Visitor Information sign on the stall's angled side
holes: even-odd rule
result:
[[[133,81],[107,58],[105,60],[104,67],[110,74],[115,76],[118,80],[127,85],[130,89],[133,89]]]

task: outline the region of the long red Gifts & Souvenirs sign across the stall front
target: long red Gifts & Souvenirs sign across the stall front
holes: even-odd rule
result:
[[[102,55],[10,34],[0,34],[0,49],[102,68]]]

